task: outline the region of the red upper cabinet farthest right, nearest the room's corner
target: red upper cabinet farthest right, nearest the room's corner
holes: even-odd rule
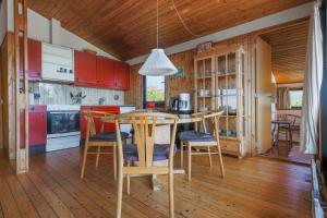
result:
[[[130,65],[123,62],[117,62],[114,73],[117,89],[130,89]]]

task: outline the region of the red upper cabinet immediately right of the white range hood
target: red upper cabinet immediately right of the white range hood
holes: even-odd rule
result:
[[[75,84],[95,85],[97,82],[97,57],[87,52],[74,52]]]

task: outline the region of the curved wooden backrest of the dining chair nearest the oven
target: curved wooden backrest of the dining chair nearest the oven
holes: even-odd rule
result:
[[[89,136],[93,136],[99,132],[104,132],[105,122],[102,119],[112,118],[112,122],[113,122],[117,114],[108,113],[104,111],[87,110],[83,112],[83,116],[86,119],[86,140],[87,140],[89,138]],[[100,126],[97,126],[97,124],[99,124]]]

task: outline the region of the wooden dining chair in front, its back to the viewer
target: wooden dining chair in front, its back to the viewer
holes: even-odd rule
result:
[[[122,144],[120,124],[130,123],[134,131],[135,144]],[[133,112],[117,117],[118,133],[118,207],[117,217],[121,217],[123,175],[128,178],[128,194],[130,194],[131,174],[169,174],[169,210],[173,213],[173,154],[175,152],[175,131],[178,117],[159,112]],[[155,144],[155,133],[158,125],[171,125],[170,144]],[[155,161],[168,160],[168,166],[155,166]],[[126,161],[126,165],[124,165]],[[137,162],[132,166],[131,162]]]

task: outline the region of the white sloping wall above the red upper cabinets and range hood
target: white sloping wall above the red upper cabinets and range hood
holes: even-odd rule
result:
[[[7,5],[7,12],[8,12],[8,31],[13,32],[14,29],[14,21],[13,21],[13,0],[3,0],[3,2],[8,1]],[[2,16],[2,13],[1,13]],[[2,19],[0,16],[0,19]],[[37,12],[28,9],[27,10],[27,19],[28,19],[28,37],[45,41],[45,43],[52,43],[52,31],[51,31],[51,21],[41,16]],[[96,46],[87,43],[86,40],[82,39],[81,37],[74,35],[73,33],[69,32],[68,29],[61,27],[60,22],[55,20],[58,25],[56,26],[56,44],[59,46],[64,46],[69,48],[73,48],[75,50],[83,50],[83,49],[92,49],[97,51],[98,55],[105,56],[111,59],[118,60],[116,57],[111,56],[110,53],[107,53],[106,51],[97,48]],[[1,24],[0,24],[1,26]],[[60,32],[60,33],[58,33]],[[1,36],[1,34],[0,34]],[[60,38],[58,38],[60,37]],[[0,38],[1,39],[1,38]],[[60,44],[58,44],[60,41]]]

